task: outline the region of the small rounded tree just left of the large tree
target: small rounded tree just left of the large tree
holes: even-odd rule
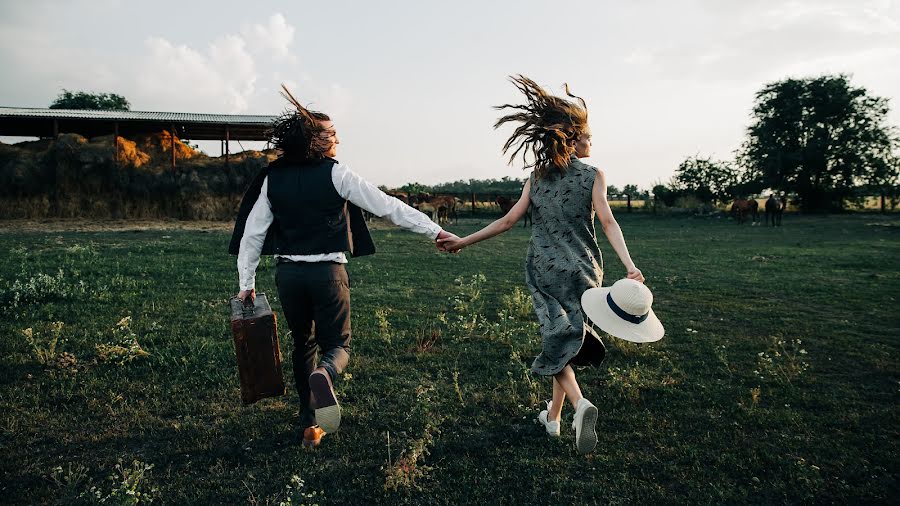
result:
[[[727,202],[734,196],[738,174],[728,162],[693,156],[675,170],[675,190],[690,193],[700,202]]]

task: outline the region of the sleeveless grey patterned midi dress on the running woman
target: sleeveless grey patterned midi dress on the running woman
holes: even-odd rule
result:
[[[563,174],[537,180],[531,174],[533,228],[525,281],[543,338],[531,364],[534,374],[551,376],[570,363],[599,365],[606,355],[581,311],[581,294],[603,280],[591,200],[596,173],[572,157]]]

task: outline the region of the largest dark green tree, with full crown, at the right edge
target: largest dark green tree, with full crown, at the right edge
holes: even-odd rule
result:
[[[762,187],[795,192],[804,210],[843,207],[863,182],[892,180],[888,101],[846,75],[785,79],[756,94],[740,160]]]

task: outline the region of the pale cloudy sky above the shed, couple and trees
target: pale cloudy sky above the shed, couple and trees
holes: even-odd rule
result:
[[[0,106],[65,88],[136,111],[278,114],[285,83],[334,119],[341,162],[391,187],[525,177],[501,151],[512,127],[493,129],[492,106],[521,103],[513,74],[568,83],[588,104],[585,162],[649,188],[686,157],[733,160],[755,93],[787,77],[849,74],[900,125],[898,62],[890,0],[0,0]]]

